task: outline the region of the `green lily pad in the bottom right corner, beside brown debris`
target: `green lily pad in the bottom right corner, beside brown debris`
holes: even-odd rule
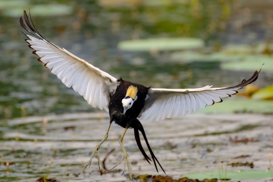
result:
[[[224,172],[225,176],[225,172]],[[219,178],[219,171],[212,172],[200,172],[200,173],[191,173],[185,174],[181,177],[188,177],[198,180],[203,180],[205,178]],[[241,180],[241,179],[263,179],[263,178],[272,178],[273,171],[265,171],[265,170],[239,170],[237,172],[227,171],[227,179],[232,180]]]

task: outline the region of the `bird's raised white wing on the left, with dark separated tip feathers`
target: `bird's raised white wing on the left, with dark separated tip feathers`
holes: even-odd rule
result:
[[[108,111],[110,94],[119,84],[117,79],[43,38],[33,23],[30,24],[25,11],[23,18],[20,17],[20,24],[30,33],[25,34],[28,37],[25,41],[34,49],[32,53],[39,56],[38,61],[67,87],[72,86],[90,105]]]

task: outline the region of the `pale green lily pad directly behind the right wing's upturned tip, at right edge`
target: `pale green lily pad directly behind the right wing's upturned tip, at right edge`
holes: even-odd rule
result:
[[[241,61],[224,62],[221,64],[221,69],[236,70],[236,71],[253,71],[260,69],[262,71],[273,71],[273,56],[253,55],[245,56]]]

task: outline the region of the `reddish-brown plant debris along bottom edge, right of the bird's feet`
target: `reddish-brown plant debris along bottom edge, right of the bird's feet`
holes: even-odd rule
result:
[[[217,182],[218,180],[216,178],[214,179],[204,179],[204,180],[194,180],[194,179],[189,179],[187,177],[182,177],[180,179],[173,179],[170,176],[152,176],[149,174],[143,174],[139,175],[137,177],[140,182],[147,182],[148,180],[152,179],[153,182]]]

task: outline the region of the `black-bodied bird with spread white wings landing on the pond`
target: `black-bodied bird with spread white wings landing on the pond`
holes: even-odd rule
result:
[[[149,145],[140,121],[158,121],[171,117],[185,116],[200,108],[222,102],[222,98],[230,97],[238,93],[238,89],[256,81],[261,71],[261,69],[259,71],[256,70],[251,78],[244,79],[238,85],[229,87],[213,88],[211,85],[194,89],[146,87],[138,83],[123,80],[121,77],[116,79],[85,60],[73,55],[66,49],[49,42],[37,31],[30,14],[29,17],[30,19],[24,10],[19,22],[26,31],[26,33],[22,31],[27,37],[25,41],[29,44],[30,48],[34,49],[32,53],[38,56],[38,61],[45,68],[50,69],[67,87],[72,87],[83,96],[91,106],[109,112],[110,122],[107,131],[103,140],[93,150],[86,167],[91,165],[96,153],[99,166],[103,166],[99,156],[99,149],[107,139],[110,126],[114,121],[114,123],[124,128],[119,139],[120,147],[123,150],[123,158],[117,165],[124,160],[123,173],[127,166],[131,179],[133,172],[129,162],[129,155],[123,146],[123,138],[128,129],[134,130],[136,144],[147,162],[150,164],[153,162],[157,172],[158,164],[165,173],[165,170]],[[139,132],[143,135],[152,159],[142,147]]]

